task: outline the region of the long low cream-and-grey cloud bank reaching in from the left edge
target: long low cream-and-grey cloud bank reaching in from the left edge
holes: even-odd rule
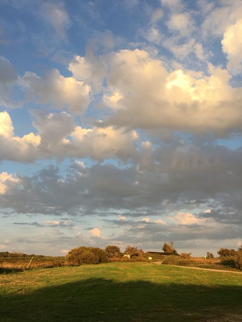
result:
[[[0,112],[0,159],[33,162],[37,158],[65,158],[91,156],[102,161],[118,157],[128,160],[136,154],[137,132],[125,128],[77,126],[72,115],[32,112],[36,134],[14,135],[12,120],[7,112]]]

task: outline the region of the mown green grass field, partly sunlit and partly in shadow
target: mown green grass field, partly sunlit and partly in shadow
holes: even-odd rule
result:
[[[240,321],[242,274],[107,263],[0,275],[0,320]]]

